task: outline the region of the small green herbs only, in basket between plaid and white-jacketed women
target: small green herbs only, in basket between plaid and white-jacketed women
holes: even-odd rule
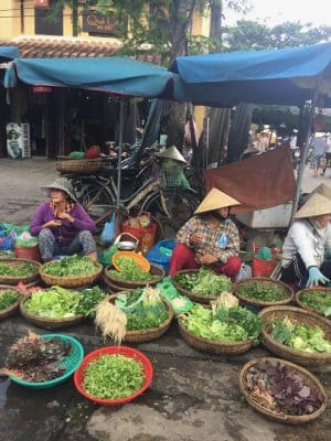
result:
[[[288,299],[285,288],[277,284],[249,281],[238,286],[238,294],[247,299],[259,300],[261,302],[279,302]]]

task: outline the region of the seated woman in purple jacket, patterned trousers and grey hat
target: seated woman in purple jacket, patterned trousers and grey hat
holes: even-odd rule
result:
[[[39,238],[43,261],[55,255],[78,252],[96,260],[96,244],[92,235],[95,224],[78,204],[71,183],[58,178],[43,189],[49,191],[50,201],[36,209],[30,226],[31,235]]]

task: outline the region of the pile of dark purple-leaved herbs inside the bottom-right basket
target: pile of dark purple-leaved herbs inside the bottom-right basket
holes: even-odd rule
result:
[[[318,410],[323,396],[297,369],[279,361],[261,361],[246,373],[246,389],[254,401],[280,415],[305,416]]]

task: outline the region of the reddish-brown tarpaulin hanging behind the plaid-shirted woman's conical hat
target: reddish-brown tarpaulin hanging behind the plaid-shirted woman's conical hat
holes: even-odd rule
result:
[[[242,205],[232,213],[253,212],[289,202],[296,180],[287,147],[205,171],[206,189],[216,187]]]

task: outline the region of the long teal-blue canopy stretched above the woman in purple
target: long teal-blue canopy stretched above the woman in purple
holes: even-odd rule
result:
[[[4,86],[19,78],[29,85],[78,87],[140,97],[171,96],[177,74],[126,56],[102,58],[18,58],[8,67]]]

